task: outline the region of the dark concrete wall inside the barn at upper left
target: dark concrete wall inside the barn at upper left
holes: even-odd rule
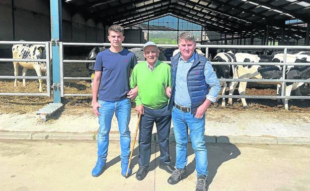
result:
[[[62,17],[64,42],[107,42],[102,23],[72,14],[65,2]],[[50,41],[50,28],[50,0],[0,0],[1,41]]]

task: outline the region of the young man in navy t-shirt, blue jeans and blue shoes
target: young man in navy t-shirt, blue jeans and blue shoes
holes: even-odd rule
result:
[[[137,87],[129,88],[130,70],[137,64],[134,53],[124,49],[124,29],[112,25],[108,29],[111,47],[100,52],[95,61],[95,76],[92,88],[92,110],[99,118],[97,136],[97,162],[91,175],[98,177],[103,173],[108,154],[109,132],[115,112],[121,144],[122,175],[126,175],[130,155],[130,110],[131,100],[137,95]],[[98,97],[98,98],[97,98]],[[128,174],[131,174],[129,169]]]

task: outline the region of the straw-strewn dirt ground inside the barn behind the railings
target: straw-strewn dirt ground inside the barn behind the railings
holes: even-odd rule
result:
[[[85,60],[85,56],[71,56],[65,57],[66,60]],[[88,77],[87,70],[84,63],[66,63],[64,75],[68,77]],[[12,63],[1,63],[0,75],[14,75]],[[19,67],[19,75],[21,75],[21,67]],[[36,75],[33,69],[29,69],[27,75]],[[46,83],[44,93],[46,92]],[[14,87],[13,79],[0,79],[0,92],[29,92],[39,93],[39,83],[37,80],[26,80],[26,86],[22,85],[22,80],[18,80],[17,87]],[[87,80],[66,80],[65,93],[91,93],[90,81]],[[238,95],[235,90],[234,95]],[[262,88],[248,88],[246,95],[276,95],[275,86],[269,86],[267,89]],[[242,104],[237,99],[233,99],[233,106],[226,108],[221,107],[221,99],[219,104],[211,106],[209,111],[228,111],[228,112],[246,112],[246,111],[268,111],[275,112],[281,116],[283,112],[287,113],[309,113],[310,100],[290,100],[289,111],[283,109],[283,105],[277,103],[276,100],[270,99],[247,99],[248,108],[244,110]],[[25,114],[39,110],[44,105],[53,102],[53,97],[33,97],[33,96],[0,96],[0,114]],[[90,97],[66,97],[63,100],[64,108],[61,111],[63,114],[83,115],[91,114]],[[133,104],[134,105],[134,104]]]

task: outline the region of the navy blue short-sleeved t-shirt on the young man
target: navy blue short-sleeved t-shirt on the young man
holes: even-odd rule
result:
[[[98,99],[118,101],[127,97],[129,92],[130,68],[137,64],[134,53],[123,49],[113,53],[106,49],[97,55],[94,70],[102,71]]]

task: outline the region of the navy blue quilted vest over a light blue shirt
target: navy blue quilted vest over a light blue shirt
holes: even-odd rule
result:
[[[171,110],[173,107],[176,70],[180,56],[181,53],[178,53],[174,57],[171,57],[171,98],[168,104],[168,110]],[[191,99],[191,114],[194,114],[197,108],[203,104],[209,91],[209,85],[206,83],[204,74],[207,61],[207,58],[196,52],[194,63],[187,73],[187,87]]]

